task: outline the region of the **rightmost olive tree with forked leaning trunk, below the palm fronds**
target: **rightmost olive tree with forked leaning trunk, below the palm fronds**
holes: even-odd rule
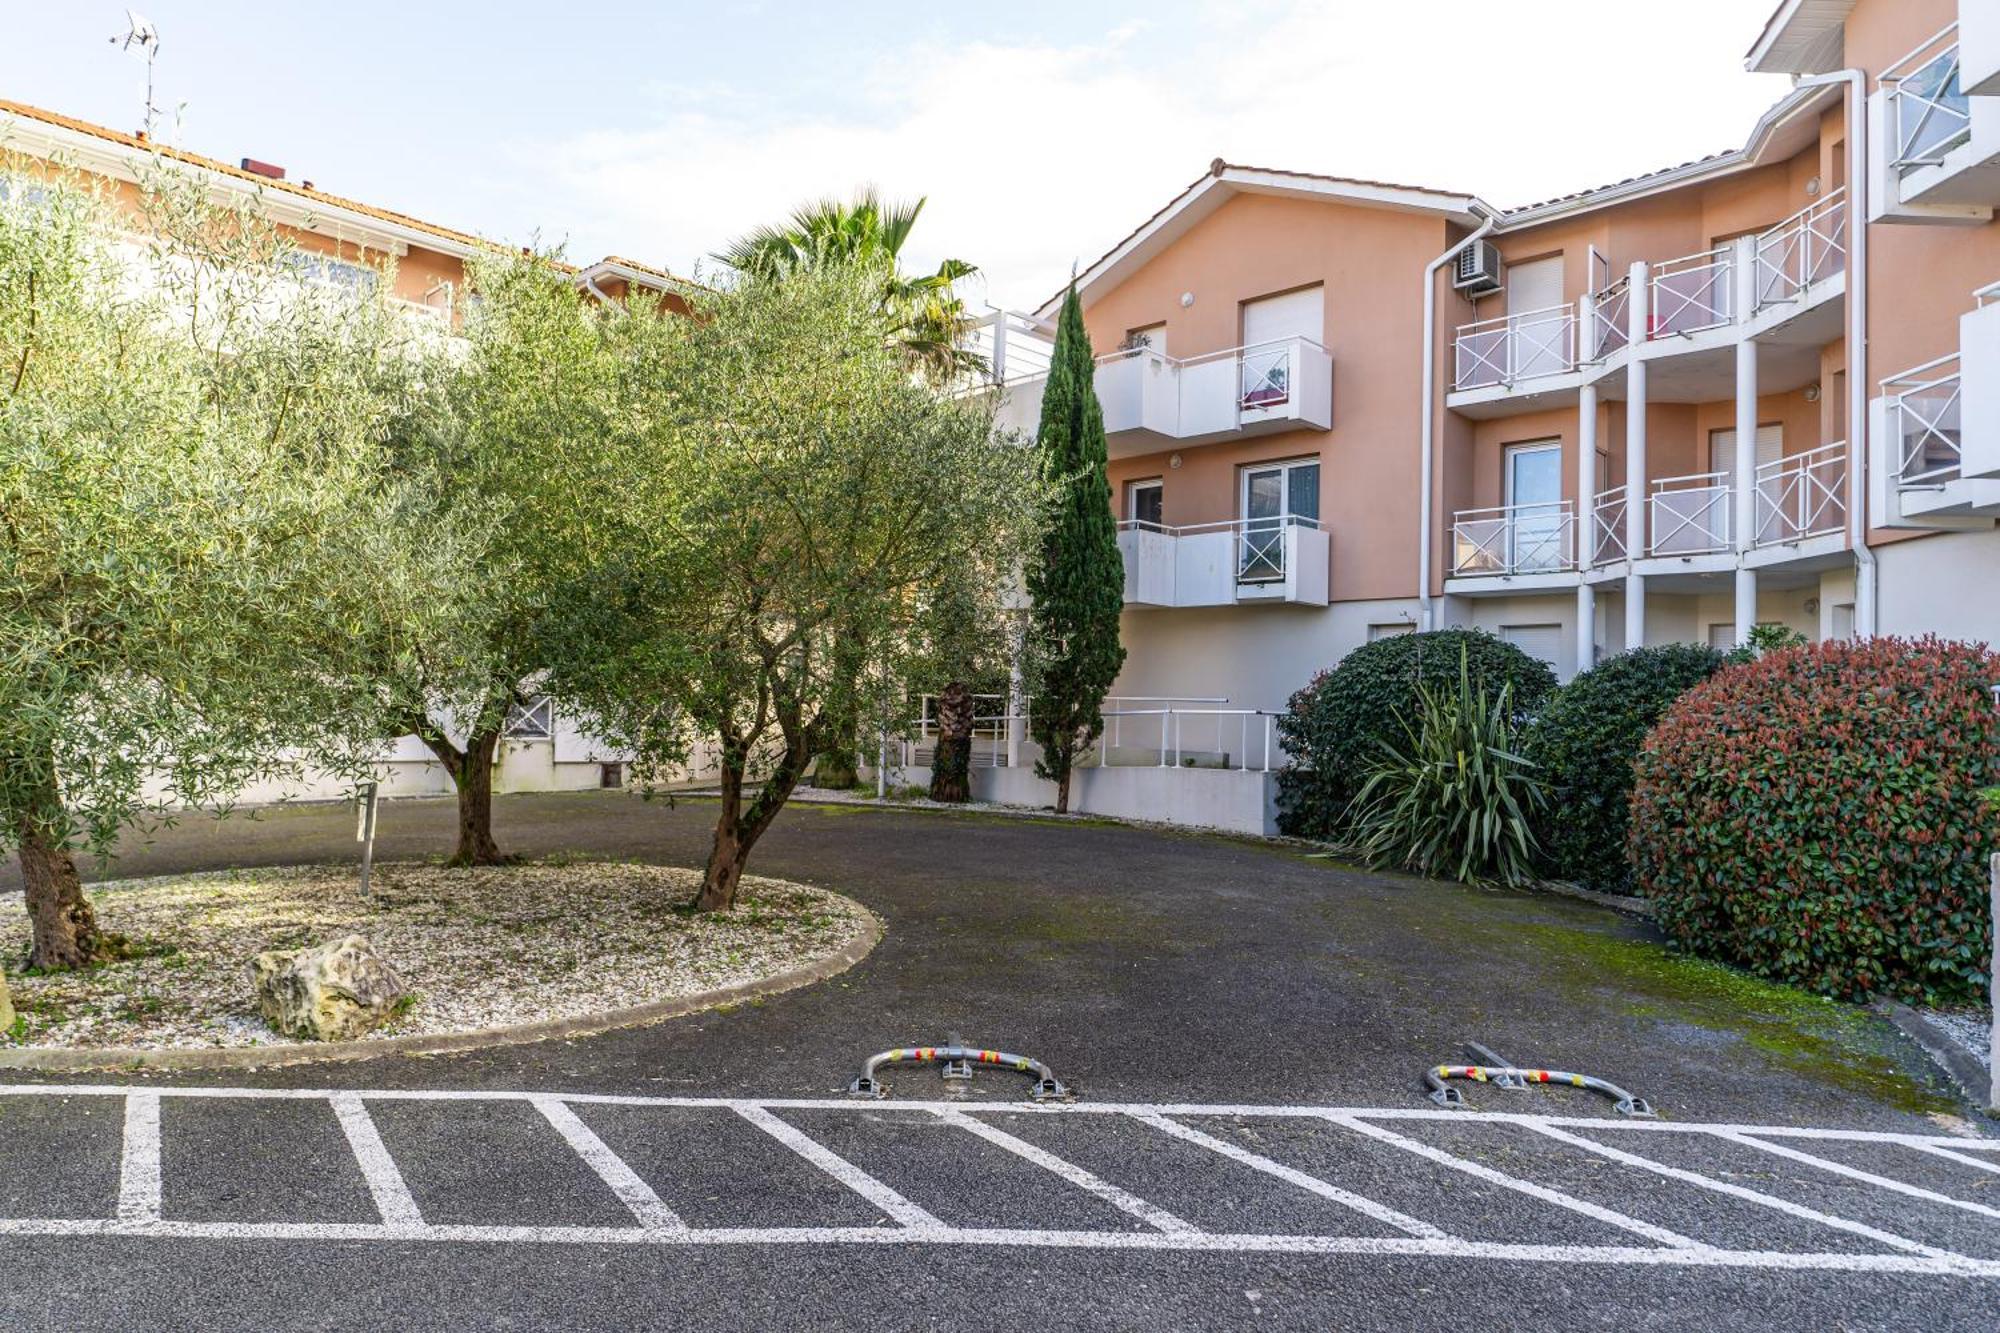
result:
[[[654,771],[714,749],[696,907],[722,911],[834,719],[906,693],[930,590],[1018,566],[1036,480],[988,402],[882,338],[866,270],[744,278],[692,314],[622,326],[636,460],[602,496],[556,679]]]

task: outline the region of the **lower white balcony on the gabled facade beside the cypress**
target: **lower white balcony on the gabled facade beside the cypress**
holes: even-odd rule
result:
[[[1328,540],[1312,518],[1128,520],[1118,550],[1128,606],[1326,604]]]

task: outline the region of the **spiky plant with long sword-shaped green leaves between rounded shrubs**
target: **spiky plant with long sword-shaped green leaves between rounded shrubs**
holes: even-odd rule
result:
[[[1462,650],[1452,689],[1416,697],[1402,743],[1376,743],[1348,817],[1354,845],[1370,865],[1438,879],[1532,881],[1542,785],[1514,747],[1514,687],[1486,695]]]

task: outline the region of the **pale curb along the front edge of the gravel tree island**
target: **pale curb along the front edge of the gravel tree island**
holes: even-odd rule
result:
[[[144,1047],[106,1047],[100,1051],[54,1051],[18,1049],[0,1051],[0,1069],[26,1069],[42,1073],[132,1073],[138,1069],[184,1071],[184,1069],[274,1069],[280,1065],[326,1065],[344,1061],[372,1061],[384,1055],[454,1055],[460,1051],[484,1051],[490,1047],[520,1047],[534,1041],[554,1041],[562,1037],[594,1037],[620,1027],[646,1027],[680,1019],[702,1009],[736,1005],[742,1001],[782,995],[800,987],[838,977],[882,943],[882,919],[866,907],[862,909],[862,933],[834,953],[774,973],[758,981],[740,981],[732,987],[698,991],[696,995],[676,995],[650,1005],[628,1009],[606,1009],[580,1019],[546,1019],[542,1023],[522,1023],[518,1027],[486,1027],[470,1033],[436,1033],[426,1037],[386,1037],[382,1041],[332,1041],[296,1043],[284,1047],[200,1047],[152,1051]]]

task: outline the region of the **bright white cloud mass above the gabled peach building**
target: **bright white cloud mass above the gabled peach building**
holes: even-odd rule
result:
[[[1020,306],[1216,156],[1518,204],[1740,144],[1784,90],[1742,72],[1740,0],[1684,0],[1670,24],[1602,0],[1528,8],[1496,24],[1470,0],[1298,0],[1066,46],[910,42],[854,70],[840,112],[688,96],[654,126],[564,140],[556,174],[590,218],[578,250],[682,270],[808,198],[928,194],[912,260],[972,260]]]

